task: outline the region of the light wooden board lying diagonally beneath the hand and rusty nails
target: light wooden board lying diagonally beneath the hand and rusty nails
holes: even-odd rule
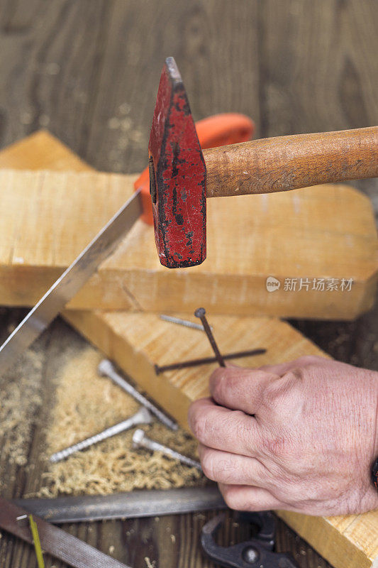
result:
[[[28,154],[33,155],[33,140],[30,140],[30,143],[26,141],[25,144],[16,160],[20,169],[23,168],[23,153],[27,150]],[[67,160],[70,160],[70,151],[65,152]],[[36,160],[39,159],[37,155]],[[30,161],[33,161],[32,158]],[[1,165],[6,167],[8,164],[3,161]],[[15,168],[16,163],[13,162],[12,167]],[[43,167],[55,168],[53,156],[50,163],[43,164]],[[209,310],[210,313],[211,311]],[[185,371],[180,375],[180,380],[172,374],[169,378],[165,375],[165,379],[159,379],[152,369],[152,364],[155,363],[189,359],[194,353],[205,351],[209,354],[206,350],[209,347],[201,332],[177,328],[174,324],[162,322],[153,314],[72,310],[67,311],[65,317],[105,354],[113,357],[121,368],[125,371],[129,369],[133,378],[139,380],[140,385],[156,400],[163,405],[168,405],[170,401],[169,408],[180,422],[184,423],[186,420],[186,410],[191,397],[198,398],[206,394],[209,367],[202,373],[199,373],[199,369],[196,372],[191,370],[191,377],[186,374],[188,371]],[[321,354],[308,339],[289,324],[279,320],[211,315],[211,323],[224,351],[228,351],[228,348],[236,350],[238,346],[240,349],[242,346],[267,347],[267,354],[249,361],[246,359],[244,364],[257,365],[293,359],[304,354]],[[378,511],[337,518],[310,517],[285,511],[279,511],[278,514],[335,568],[368,568],[373,567],[373,563],[376,568]]]

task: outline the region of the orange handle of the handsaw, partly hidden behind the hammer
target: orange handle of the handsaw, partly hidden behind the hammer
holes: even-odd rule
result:
[[[238,142],[251,140],[255,131],[254,122],[236,112],[214,114],[207,119],[196,122],[196,131],[201,148],[217,148]],[[143,214],[141,219],[148,225],[153,225],[152,204],[150,196],[150,175],[148,168],[140,174],[134,183],[135,190],[140,189],[142,197]]]

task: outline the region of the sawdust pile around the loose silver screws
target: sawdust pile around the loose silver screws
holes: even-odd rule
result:
[[[67,361],[58,379],[46,459],[57,450],[101,432],[138,410],[138,403],[110,379],[97,375],[101,354],[88,347]],[[184,430],[172,432],[154,420],[142,426],[148,436],[196,459],[196,441]],[[123,432],[57,464],[48,463],[39,496],[106,494],[136,488],[199,485],[204,476],[160,452],[133,450],[133,431]]]

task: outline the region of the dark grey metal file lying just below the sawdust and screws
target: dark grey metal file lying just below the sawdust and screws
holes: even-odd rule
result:
[[[50,523],[84,520],[156,517],[226,509],[216,486],[137,490],[111,495],[67,496],[53,499],[17,499],[16,505]]]

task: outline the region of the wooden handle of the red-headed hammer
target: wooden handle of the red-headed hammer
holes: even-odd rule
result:
[[[207,197],[378,177],[378,126],[263,138],[204,150]]]

